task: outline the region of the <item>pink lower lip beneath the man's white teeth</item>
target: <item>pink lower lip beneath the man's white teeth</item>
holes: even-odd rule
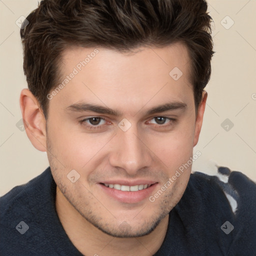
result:
[[[148,198],[154,188],[156,187],[157,183],[150,185],[147,188],[138,190],[138,191],[122,191],[114,188],[107,187],[101,183],[98,185],[103,189],[104,193],[110,195],[114,199],[117,199],[120,202],[124,203],[136,203],[145,198]]]

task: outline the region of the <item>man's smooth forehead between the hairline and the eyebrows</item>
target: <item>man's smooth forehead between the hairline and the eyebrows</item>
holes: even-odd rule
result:
[[[193,95],[188,51],[181,43],[140,47],[132,52],[68,48],[62,53],[60,74],[59,83],[64,86],[50,104],[86,102],[116,109],[122,104],[141,108],[149,101],[151,105],[185,102]]]

